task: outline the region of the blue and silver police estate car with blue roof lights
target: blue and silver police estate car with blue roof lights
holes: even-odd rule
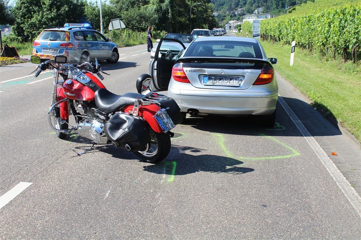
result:
[[[108,63],[119,60],[118,46],[89,23],[65,23],[64,27],[44,29],[35,39],[32,55],[49,60],[64,55],[69,63],[90,62],[97,58]]]

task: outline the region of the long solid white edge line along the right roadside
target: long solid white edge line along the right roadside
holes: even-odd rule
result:
[[[306,127],[302,124],[300,119],[292,111],[292,109],[287,105],[281,96],[278,97],[279,103],[282,105],[288,116],[290,116],[293,123],[295,123],[298,130],[302,133],[303,137],[306,139],[310,147],[316,153],[319,160],[322,162],[323,166],[327,169],[327,172],[335,180],[336,184],[339,186],[345,197],[351,203],[352,207],[356,210],[357,214],[361,217],[361,197],[356,193],[355,189],[351,187],[350,183],[346,180],[345,176],[340,172],[336,165],[331,161],[329,156],[323,151],[323,149],[318,145],[317,141],[309,133]]]

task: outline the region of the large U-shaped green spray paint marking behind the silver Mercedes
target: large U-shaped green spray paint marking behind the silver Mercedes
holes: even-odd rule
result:
[[[226,147],[224,141],[225,141],[225,138],[223,135],[221,134],[214,134],[215,136],[218,137],[218,144],[219,146],[221,146],[221,149],[223,150],[223,152],[226,154],[226,157],[229,157],[229,158],[236,158],[236,159],[242,159],[242,160],[265,160],[265,159],[281,159],[281,158],[290,158],[290,157],[294,157],[294,156],[297,156],[297,155],[300,155],[299,152],[297,152],[295,149],[291,148],[290,146],[288,146],[287,144],[275,139],[274,137],[271,137],[271,136],[267,136],[265,134],[260,134],[260,136],[264,136],[264,137],[267,137],[268,139],[272,140],[272,141],[275,141],[277,142],[279,145],[282,145],[284,146],[285,148],[289,149],[292,151],[293,154],[290,154],[290,155],[281,155],[281,156],[273,156],[273,157],[261,157],[261,158],[255,158],[255,157],[235,157]]]

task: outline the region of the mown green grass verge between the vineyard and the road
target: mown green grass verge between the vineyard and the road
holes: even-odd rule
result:
[[[342,63],[342,59],[326,61],[306,50],[295,50],[294,65],[290,67],[291,47],[261,41],[268,57],[284,78],[292,82],[361,142],[361,63]]]

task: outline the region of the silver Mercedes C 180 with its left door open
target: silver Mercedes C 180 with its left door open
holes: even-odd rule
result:
[[[160,41],[162,44],[169,44]],[[275,123],[278,85],[273,65],[257,39],[197,38],[175,58],[149,63],[153,91],[168,90],[183,115],[259,115],[262,126]]]

